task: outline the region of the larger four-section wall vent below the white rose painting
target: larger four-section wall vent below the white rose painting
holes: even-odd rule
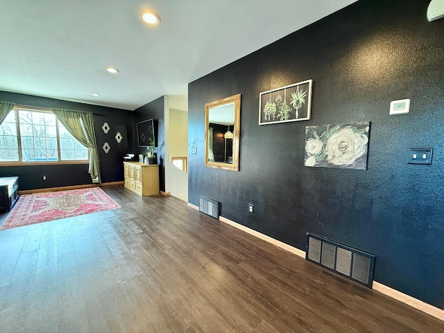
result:
[[[331,239],[307,233],[305,259],[344,275],[371,288],[375,255],[339,244]]]

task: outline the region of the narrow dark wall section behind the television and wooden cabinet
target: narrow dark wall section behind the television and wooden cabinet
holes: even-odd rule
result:
[[[154,135],[155,135],[155,149],[154,152],[157,157],[157,164],[159,164],[159,186],[160,191],[165,191],[165,131],[164,131],[164,96],[147,103],[140,108],[134,110],[134,126],[139,121],[153,119],[154,121]],[[139,147],[137,144],[137,130],[134,127],[134,142],[135,142],[135,158],[138,160],[139,153],[146,153],[146,147]]]

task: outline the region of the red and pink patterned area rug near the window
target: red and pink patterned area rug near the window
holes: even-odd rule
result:
[[[100,187],[24,194],[0,230],[116,208],[120,206]]]

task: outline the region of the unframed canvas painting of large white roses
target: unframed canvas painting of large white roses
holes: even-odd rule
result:
[[[370,121],[305,127],[305,167],[367,169]]]

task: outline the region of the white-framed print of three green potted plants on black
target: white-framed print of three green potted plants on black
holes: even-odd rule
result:
[[[309,120],[311,85],[306,80],[259,94],[259,125]]]

